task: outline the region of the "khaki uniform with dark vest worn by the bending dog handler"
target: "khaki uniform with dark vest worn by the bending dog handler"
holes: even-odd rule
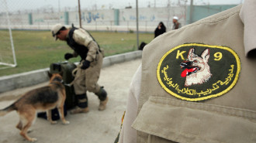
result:
[[[67,35],[67,45],[74,49],[73,56],[81,56],[81,63],[74,77],[74,92],[78,95],[78,107],[88,107],[87,90],[98,95],[99,100],[106,100],[106,91],[97,83],[103,59],[98,43],[85,29],[72,27]],[[90,66],[83,70],[81,66],[85,60],[90,62]]]

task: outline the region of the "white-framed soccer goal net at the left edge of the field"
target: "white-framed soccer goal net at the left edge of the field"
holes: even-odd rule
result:
[[[9,19],[9,7],[6,1],[0,0],[0,69],[17,66],[12,40],[12,26]]]

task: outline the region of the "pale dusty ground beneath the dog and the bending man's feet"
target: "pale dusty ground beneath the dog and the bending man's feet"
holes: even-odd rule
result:
[[[30,137],[37,138],[37,143],[112,143],[119,132],[121,117],[126,107],[126,98],[133,74],[141,60],[132,60],[115,64],[102,69],[99,84],[108,92],[109,102],[105,111],[98,111],[99,99],[95,94],[88,93],[87,114],[67,114],[71,124],[64,125],[61,121],[50,124],[43,118],[37,118],[32,126]],[[26,87],[0,94],[0,109],[12,104],[21,94],[47,83]],[[16,111],[0,117],[0,142],[22,143],[25,141],[16,129],[19,116]]]

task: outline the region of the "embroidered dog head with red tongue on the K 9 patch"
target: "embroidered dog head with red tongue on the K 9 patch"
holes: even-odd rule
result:
[[[195,84],[202,84],[207,82],[212,73],[209,65],[209,49],[205,49],[201,56],[195,54],[195,49],[189,49],[188,59],[180,63],[182,69],[181,76],[185,77],[185,87]]]

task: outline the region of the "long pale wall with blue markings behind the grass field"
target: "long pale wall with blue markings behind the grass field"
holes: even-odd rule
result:
[[[192,22],[234,6],[236,5],[194,5],[192,7]],[[170,30],[174,15],[178,16],[179,22],[185,26],[190,22],[189,12],[190,6],[141,8],[139,9],[139,30],[154,32],[159,22],[164,22],[167,30]],[[29,15],[32,15],[32,22],[29,22],[31,20]],[[74,23],[74,26],[79,26],[78,12],[11,14],[9,17],[12,29],[50,29],[56,23],[69,26]],[[81,10],[81,23],[88,30],[135,31],[136,9]],[[7,27],[6,16],[0,14],[0,29]]]

